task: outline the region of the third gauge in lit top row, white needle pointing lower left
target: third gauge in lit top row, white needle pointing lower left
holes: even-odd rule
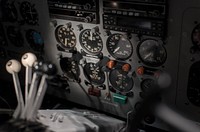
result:
[[[133,52],[131,42],[122,34],[113,34],[107,40],[108,52],[116,59],[126,60]]]

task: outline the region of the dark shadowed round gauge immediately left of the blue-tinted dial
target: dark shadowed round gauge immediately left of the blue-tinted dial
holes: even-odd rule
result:
[[[24,40],[20,30],[14,26],[7,28],[7,36],[9,41],[16,47],[22,47]]]

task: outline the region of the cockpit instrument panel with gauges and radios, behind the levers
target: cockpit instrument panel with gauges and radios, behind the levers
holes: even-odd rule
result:
[[[172,83],[162,101],[200,122],[198,0],[1,0],[0,73],[33,52],[56,64],[69,90],[49,94],[126,118],[158,71]],[[23,75],[21,75],[23,78]],[[152,115],[144,123],[165,129]]]

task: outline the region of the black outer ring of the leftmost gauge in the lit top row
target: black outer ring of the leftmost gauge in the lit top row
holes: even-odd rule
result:
[[[58,37],[58,32],[59,32],[60,29],[63,28],[63,27],[64,27],[65,29],[69,29],[70,32],[72,32],[72,33],[73,33],[73,36],[75,37],[75,44],[74,44],[72,47],[66,46],[64,43],[61,42],[60,38]],[[77,38],[76,38],[76,35],[75,35],[74,31],[73,31],[71,28],[66,27],[65,25],[59,25],[59,26],[56,27],[54,33],[55,33],[56,41],[58,42],[58,44],[59,44],[62,48],[71,50],[71,49],[74,49],[74,47],[76,47]]]

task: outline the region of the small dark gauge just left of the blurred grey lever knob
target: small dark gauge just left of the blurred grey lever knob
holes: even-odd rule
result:
[[[150,92],[149,90],[152,89],[154,86],[154,80],[153,79],[145,79],[141,83],[141,89],[143,92]]]

